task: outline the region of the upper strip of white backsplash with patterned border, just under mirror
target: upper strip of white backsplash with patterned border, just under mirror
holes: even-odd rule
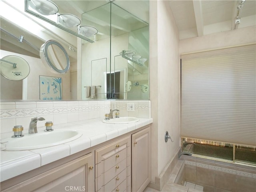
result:
[[[0,119],[110,110],[111,102],[121,110],[126,110],[128,102],[134,102],[135,110],[150,111],[150,101],[1,102]]]

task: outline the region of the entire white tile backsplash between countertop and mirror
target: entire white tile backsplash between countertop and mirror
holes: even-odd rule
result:
[[[127,103],[134,103],[134,111],[127,111]],[[55,125],[62,123],[104,118],[113,104],[120,110],[120,116],[150,118],[150,101],[25,101],[0,102],[1,133],[11,132],[13,126],[22,125],[28,130],[31,118],[42,116]],[[38,127],[45,121],[38,121]]]

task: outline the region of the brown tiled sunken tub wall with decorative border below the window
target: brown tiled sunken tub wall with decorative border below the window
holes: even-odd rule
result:
[[[204,187],[204,192],[254,192],[256,188],[256,167],[232,164],[199,157],[181,156],[184,166],[178,184],[184,181]],[[178,163],[180,162],[178,161]],[[177,165],[179,165],[177,163]],[[177,174],[177,173],[176,173]],[[183,183],[182,183],[183,182]]]

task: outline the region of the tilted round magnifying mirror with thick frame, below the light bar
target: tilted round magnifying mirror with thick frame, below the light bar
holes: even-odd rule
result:
[[[46,68],[54,73],[66,73],[70,68],[68,53],[55,40],[48,40],[40,48],[40,58]]]

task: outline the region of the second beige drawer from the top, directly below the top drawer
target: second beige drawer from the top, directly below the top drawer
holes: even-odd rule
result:
[[[102,173],[106,172],[107,170],[112,168],[114,165],[126,159],[126,154],[127,154],[127,150],[125,148],[122,151],[112,155],[110,158],[96,164],[96,177],[100,176]]]

